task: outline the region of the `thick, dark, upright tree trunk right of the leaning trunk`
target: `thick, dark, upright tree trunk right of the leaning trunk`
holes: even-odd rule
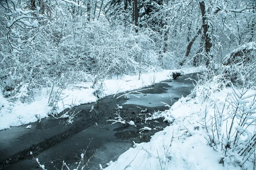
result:
[[[211,38],[209,37],[209,24],[207,22],[207,13],[205,9],[205,3],[204,1],[201,1],[200,3],[200,9],[202,13],[202,23],[203,23],[203,28],[204,28],[204,44],[205,44],[205,53],[206,53],[206,66],[209,66],[210,59],[212,59],[212,54],[211,54],[211,48],[212,48],[212,42]]]

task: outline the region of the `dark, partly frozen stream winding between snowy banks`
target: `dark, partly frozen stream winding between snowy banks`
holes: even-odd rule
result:
[[[84,153],[85,158],[82,163],[87,164],[84,169],[98,170],[99,164],[106,167],[106,163],[115,161],[119,155],[133,147],[133,141],[148,142],[150,136],[168,125],[161,120],[158,123],[144,123],[145,117],[140,115],[140,111],[148,109],[148,113],[152,113],[168,109],[161,102],[172,105],[181,96],[190,94],[194,85],[188,78],[196,79],[196,75],[188,74],[158,83],[148,87],[153,89],[141,91],[143,94],[130,94],[130,99],[116,99],[122,94],[115,98],[111,95],[97,103],[72,108],[70,113],[80,112],[70,125],[67,125],[65,119],[47,118],[32,123],[30,130],[21,126],[0,131],[0,169],[39,170],[37,162],[29,156],[30,151],[47,170],[61,169],[63,160],[73,170],[78,166],[81,153]],[[117,105],[123,109],[116,109]],[[92,106],[94,109],[90,112]],[[115,113],[119,113],[128,122],[134,121],[137,127],[111,125],[106,120],[114,119]],[[139,133],[139,129],[145,126],[158,130]]]

